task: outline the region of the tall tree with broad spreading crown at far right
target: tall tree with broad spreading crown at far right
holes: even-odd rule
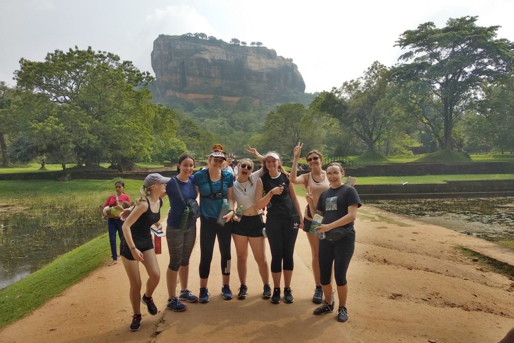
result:
[[[514,45],[496,39],[499,26],[477,26],[477,16],[449,19],[446,26],[420,24],[400,35],[396,46],[409,49],[394,75],[417,97],[426,125],[442,124],[440,148],[453,150],[452,131],[462,114],[484,94],[484,87],[498,82],[514,65]],[[424,97],[423,101],[419,97]],[[429,116],[424,112],[435,110]],[[434,121],[435,120],[435,121]],[[433,130],[435,134],[437,130]]]

